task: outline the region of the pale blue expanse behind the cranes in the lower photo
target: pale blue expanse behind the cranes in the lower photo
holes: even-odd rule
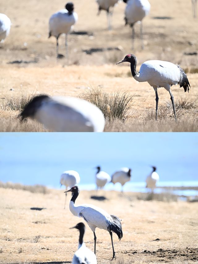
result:
[[[197,149],[197,133],[0,133],[0,180],[57,188],[75,170],[88,184],[98,165],[110,175],[131,167],[134,182],[150,165],[161,181],[198,180]]]

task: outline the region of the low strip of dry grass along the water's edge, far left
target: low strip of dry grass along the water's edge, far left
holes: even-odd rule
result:
[[[40,185],[40,184],[23,185],[23,184],[12,183],[12,182],[3,183],[0,181],[0,188],[17,189],[17,190],[29,191],[31,193],[43,193],[43,194],[49,192],[49,190],[44,185]]]

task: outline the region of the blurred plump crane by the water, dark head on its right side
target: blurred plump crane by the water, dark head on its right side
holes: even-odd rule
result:
[[[131,180],[131,169],[129,168],[121,168],[119,171],[114,172],[111,177],[111,182],[113,184],[119,182],[122,185],[122,192],[123,192],[123,185]]]

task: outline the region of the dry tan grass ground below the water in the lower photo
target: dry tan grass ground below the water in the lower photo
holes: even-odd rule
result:
[[[138,193],[100,191],[105,201],[90,199],[95,191],[81,191],[76,205],[91,203],[122,219],[123,239],[114,234],[116,260],[110,262],[110,235],[96,229],[98,263],[198,263],[197,203],[143,201]],[[0,188],[0,263],[71,263],[82,221],[64,205],[63,190],[32,193]],[[44,208],[31,210],[31,208]],[[83,222],[83,221],[82,221]],[[84,242],[94,249],[87,226]]]

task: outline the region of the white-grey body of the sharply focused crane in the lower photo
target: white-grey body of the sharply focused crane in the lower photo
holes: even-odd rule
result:
[[[74,202],[70,201],[69,209],[73,215],[82,217],[93,232],[95,232],[96,227],[108,231],[108,226],[113,223],[110,214],[97,206],[89,204],[75,206]]]

